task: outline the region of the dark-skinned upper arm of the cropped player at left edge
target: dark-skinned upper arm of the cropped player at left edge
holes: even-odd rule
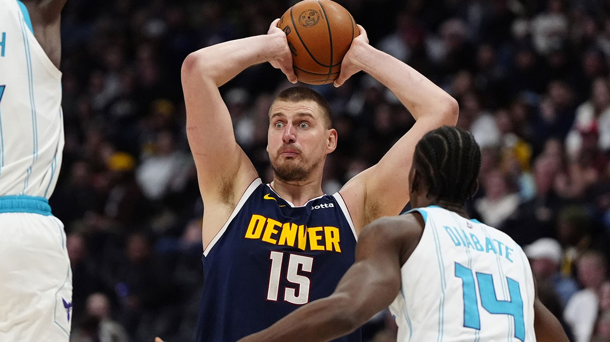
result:
[[[36,40],[59,69],[62,58],[60,14],[66,0],[24,0],[23,4],[32,20]]]

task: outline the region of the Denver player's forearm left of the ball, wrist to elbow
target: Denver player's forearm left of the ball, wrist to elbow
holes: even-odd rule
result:
[[[187,56],[182,77],[204,77],[220,87],[249,66],[273,59],[281,44],[277,37],[257,35],[208,46]]]

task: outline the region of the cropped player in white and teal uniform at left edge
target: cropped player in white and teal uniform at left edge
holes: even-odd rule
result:
[[[62,163],[65,0],[0,0],[0,341],[68,341],[72,276],[51,214]]]

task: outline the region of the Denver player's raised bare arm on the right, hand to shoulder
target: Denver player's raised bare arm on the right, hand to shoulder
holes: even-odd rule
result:
[[[380,216],[397,215],[409,201],[409,169],[415,144],[437,127],[458,121],[458,102],[431,80],[385,52],[368,45],[362,26],[345,55],[339,86],[351,75],[364,71],[386,85],[417,120],[415,125],[375,166],[350,180],[340,191],[353,213],[356,229]],[[361,214],[362,215],[359,215]]]

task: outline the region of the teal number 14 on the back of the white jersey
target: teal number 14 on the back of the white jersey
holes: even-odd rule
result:
[[[464,326],[481,330],[481,319],[479,318],[479,307],[476,301],[475,277],[472,269],[455,263],[456,277],[462,279],[462,290],[464,290]],[[491,274],[476,273],[479,283],[479,296],[481,306],[493,315],[511,315],[515,322],[515,337],[525,341],[525,320],[523,319],[523,299],[519,283],[506,277],[508,291],[511,294],[510,301],[498,301],[493,287]]]

